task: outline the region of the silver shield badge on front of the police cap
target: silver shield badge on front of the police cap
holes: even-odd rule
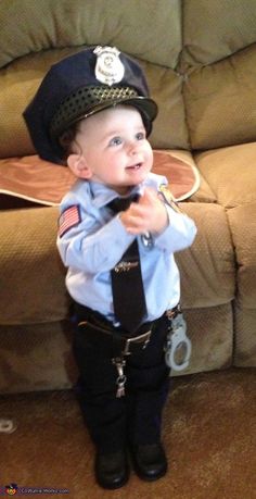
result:
[[[119,50],[115,47],[97,47],[95,77],[104,85],[119,83],[125,74],[125,66],[119,59]]]

